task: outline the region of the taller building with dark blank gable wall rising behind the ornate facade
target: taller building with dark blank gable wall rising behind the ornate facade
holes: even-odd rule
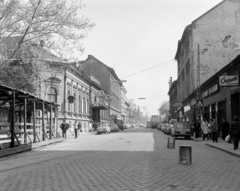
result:
[[[86,76],[93,74],[101,83],[101,88],[111,96],[110,110],[106,110],[110,125],[122,121],[121,117],[121,87],[122,82],[114,69],[105,65],[94,56],[89,55],[84,61],[79,62],[79,70]]]

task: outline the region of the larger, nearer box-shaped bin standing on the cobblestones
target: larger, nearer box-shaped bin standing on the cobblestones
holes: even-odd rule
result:
[[[179,146],[179,163],[181,164],[192,163],[192,146],[191,145]]]

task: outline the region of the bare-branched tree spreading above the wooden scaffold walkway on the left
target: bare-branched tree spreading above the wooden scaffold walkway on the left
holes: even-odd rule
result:
[[[0,1],[0,76],[39,78],[46,60],[83,52],[82,40],[95,25],[81,16],[83,7],[79,0]]]

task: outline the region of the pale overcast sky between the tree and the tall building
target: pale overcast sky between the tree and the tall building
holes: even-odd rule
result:
[[[93,55],[112,67],[121,80],[127,80],[127,98],[154,115],[163,101],[169,101],[169,78],[177,79],[174,57],[184,28],[221,0],[83,2],[82,14],[96,26],[83,42],[80,59]]]

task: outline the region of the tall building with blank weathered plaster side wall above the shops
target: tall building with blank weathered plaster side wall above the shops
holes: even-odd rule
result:
[[[222,1],[192,21],[178,42],[176,100],[183,104],[178,113],[186,120],[186,110],[194,110],[202,99],[200,85],[240,53],[239,8],[239,0]]]

